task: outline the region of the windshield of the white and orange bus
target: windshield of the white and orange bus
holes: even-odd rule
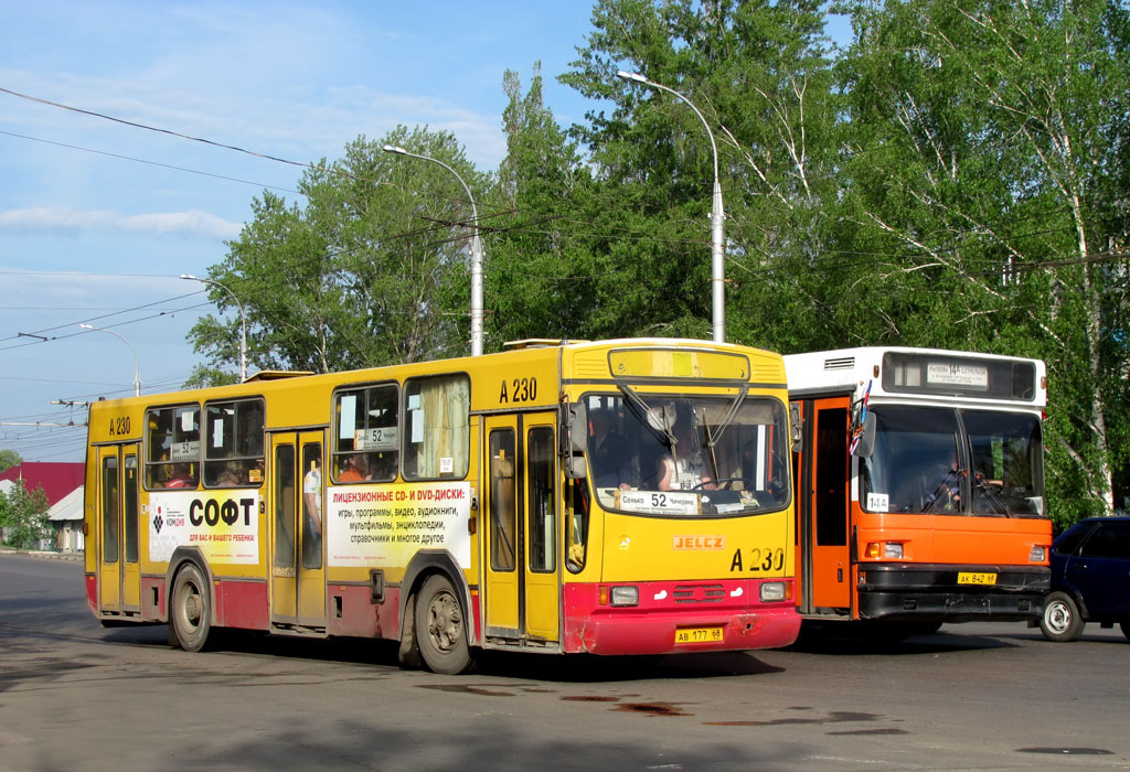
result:
[[[895,405],[872,412],[875,451],[860,464],[868,511],[1044,514],[1035,415]]]

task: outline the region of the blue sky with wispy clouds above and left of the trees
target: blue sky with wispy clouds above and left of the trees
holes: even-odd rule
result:
[[[556,82],[591,3],[7,3],[0,88],[295,161],[398,124],[451,131],[496,168],[506,69],[537,61],[558,123],[592,107]],[[180,386],[202,286],[264,187],[302,169],[0,93],[0,448],[81,460],[85,411],[50,404]],[[146,306],[140,310],[128,310]],[[25,333],[25,335],[19,335]],[[42,336],[49,339],[42,341]]]

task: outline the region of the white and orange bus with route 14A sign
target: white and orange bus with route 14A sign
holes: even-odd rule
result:
[[[784,359],[801,614],[896,635],[1037,619],[1044,363],[906,348]]]

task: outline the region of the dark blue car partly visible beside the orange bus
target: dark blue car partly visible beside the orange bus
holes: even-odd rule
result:
[[[1052,542],[1051,593],[1040,630],[1074,641],[1087,622],[1130,638],[1130,517],[1079,520]]]

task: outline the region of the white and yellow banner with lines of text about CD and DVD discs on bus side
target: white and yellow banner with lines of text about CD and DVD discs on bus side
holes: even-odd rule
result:
[[[407,565],[419,550],[446,550],[471,567],[471,484],[342,485],[327,494],[330,565]]]

